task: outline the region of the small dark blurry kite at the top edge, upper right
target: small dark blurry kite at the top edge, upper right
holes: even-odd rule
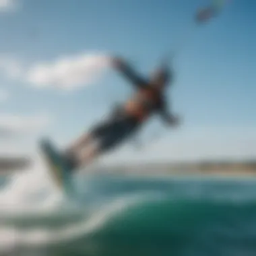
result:
[[[207,22],[220,12],[225,2],[224,0],[214,0],[211,5],[199,9],[195,15],[195,21],[199,24]]]

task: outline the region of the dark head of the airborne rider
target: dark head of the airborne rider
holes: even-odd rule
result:
[[[172,83],[172,71],[167,65],[158,67],[153,73],[150,84],[156,88],[164,88]]]

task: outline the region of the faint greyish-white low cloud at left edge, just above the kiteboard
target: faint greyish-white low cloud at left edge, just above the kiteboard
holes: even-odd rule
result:
[[[0,114],[0,135],[37,133],[51,122],[48,115],[20,116]]]

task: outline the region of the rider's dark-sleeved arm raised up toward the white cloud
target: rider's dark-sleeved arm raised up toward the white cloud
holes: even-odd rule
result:
[[[143,79],[143,77],[139,76],[133,68],[123,61],[123,59],[119,57],[115,57],[112,59],[113,66],[119,70],[127,79],[129,79],[129,82],[133,84],[136,88],[145,88],[148,86],[148,83],[146,82],[146,79]]]

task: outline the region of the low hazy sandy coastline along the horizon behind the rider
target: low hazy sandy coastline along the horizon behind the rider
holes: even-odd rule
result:
[[[30,166],[26,157],[0,157],[0,174],[22,171]],[[94,168],[93,168],[94,169]],[[112,164],[97,167],[102,172],[117,174],[218,174],[256,175],[256,160],[203,160],[187,162],[152,162],[147,164]],[[92,170],[94,171],[94,170]]]

